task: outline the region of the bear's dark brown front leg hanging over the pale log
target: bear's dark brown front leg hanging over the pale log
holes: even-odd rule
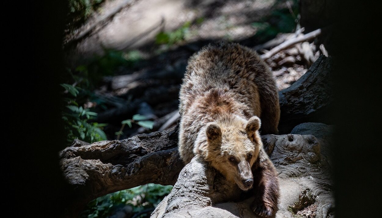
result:
[[[276,212],[279,192],[277,171],[268,158],[259,159],[252,167],[255,200],[251,205],[251,209],[259,216],[271,217]]]

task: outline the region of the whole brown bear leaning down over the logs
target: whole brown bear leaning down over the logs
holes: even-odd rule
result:
[[[280,107],[272,72],[259,55],[236,43],[204,46],[188,61],[179,111],[183,161],[199,155],[240,189],[252,188],[257,215],[273,216],[277,171],[259,129],[262,121],[262,133],[278,133]]]

